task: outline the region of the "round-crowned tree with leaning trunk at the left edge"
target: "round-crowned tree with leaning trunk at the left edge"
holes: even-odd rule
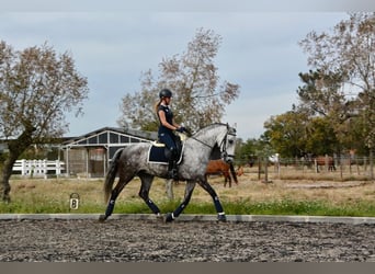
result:
[[[87,84],[68,53],[57,55],[47,44],[16,52],[0,43],[0,138],[9,149],[0,178],[2,201],[10,202],[9,179],[20,155],[63,136],[66,112],[82,114]]]

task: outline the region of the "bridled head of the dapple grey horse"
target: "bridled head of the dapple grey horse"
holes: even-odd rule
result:
[[[221,159],[231,162],[235,158],[236,129],[227,124],[224,133],[217,136],[217,145],[220,149]]]

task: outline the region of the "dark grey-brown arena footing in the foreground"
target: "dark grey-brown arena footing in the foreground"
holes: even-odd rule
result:
[[[375,224],[1,218],[1,262],[375,262]]]

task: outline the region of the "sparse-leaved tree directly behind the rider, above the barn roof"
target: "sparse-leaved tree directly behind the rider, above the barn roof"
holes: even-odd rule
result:
[[[141,90],[126,94],[122,100],[122,116],[117,121],[125,128],[156,130],[158,118],[154,110],[159,91],[168,88],[173,92],[175,121],[183,122],[192,130],[219,122],[225,105],[239,95],[239,85],[219,83],[214,58],[221,37],[213,31],[197,30],[180,55],[163,58],[159,64],[160,76],[154,79],[151,70],[141,76]]]

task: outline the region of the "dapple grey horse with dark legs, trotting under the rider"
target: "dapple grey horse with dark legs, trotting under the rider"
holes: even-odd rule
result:
[[[148,162],[148,151],[151,144],[139,142],[116,151],[104,181],[104,196],[107,201],[105,215],[100,220],[107,219],[114,209],[115,201],[125,185],[139,176],[141,185],[139,196],[157,216],[161,216],[159,207],[149,198],[149,191],[155,176],[167,178],[168,165]],[[189,204],[195,184],[198,183],[213,198],[218,220],[225,221],[226,216],[219,198],[208,184],[205,173],[206,165],[213,155],[220,155],[225,161],[231,161],[236,147],[236,129],[227,124],[213,124],[196,132],[184,141],[182,161],[179,165],[179,180],[186,181],[185,195],[173,213],[168,213],[166,221],[177,218]],[[118,182],[113,187],[116,174]]]

